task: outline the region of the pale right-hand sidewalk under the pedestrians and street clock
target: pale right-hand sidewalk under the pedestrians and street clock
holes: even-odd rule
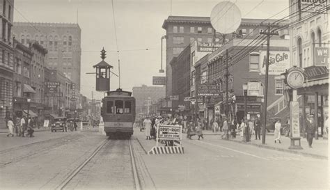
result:
[[[222,135],[223,132],[218,132],[217,134],[214,134],[212,131],[203,131],[203,134],[205,135]],[[308,142],[306,138],[301,138],[301,147],[303,148],[302,150],[290,150],[290,138],[281,136],[281,144],[276,142],[274,143],[274,136],[273,134],[267,134],[266,135],[266,143],[262,144],[262,140],[255,140],[256,136],[251,137],[251,141],[246,143],[241,140],[241,137],[238,135],[236,138],[230,138],[228,140],[223,141],[233,141],[235,143],[243,143],[247,145],[255,145],[260,148],[267,148],[267,149],[272,149],[272,150],[278,150],[282,152],[290,152],[294,154],[299,154],[299,155],[305,155],[305,156],[310,156],[310,157],[317,157],[321,159],[328,159],[328,140],[324,140],[322,137],[320,137],[318,140],[313,139],[313,148],[308,147]],[[262,136],[261,136],[262,139]]]

